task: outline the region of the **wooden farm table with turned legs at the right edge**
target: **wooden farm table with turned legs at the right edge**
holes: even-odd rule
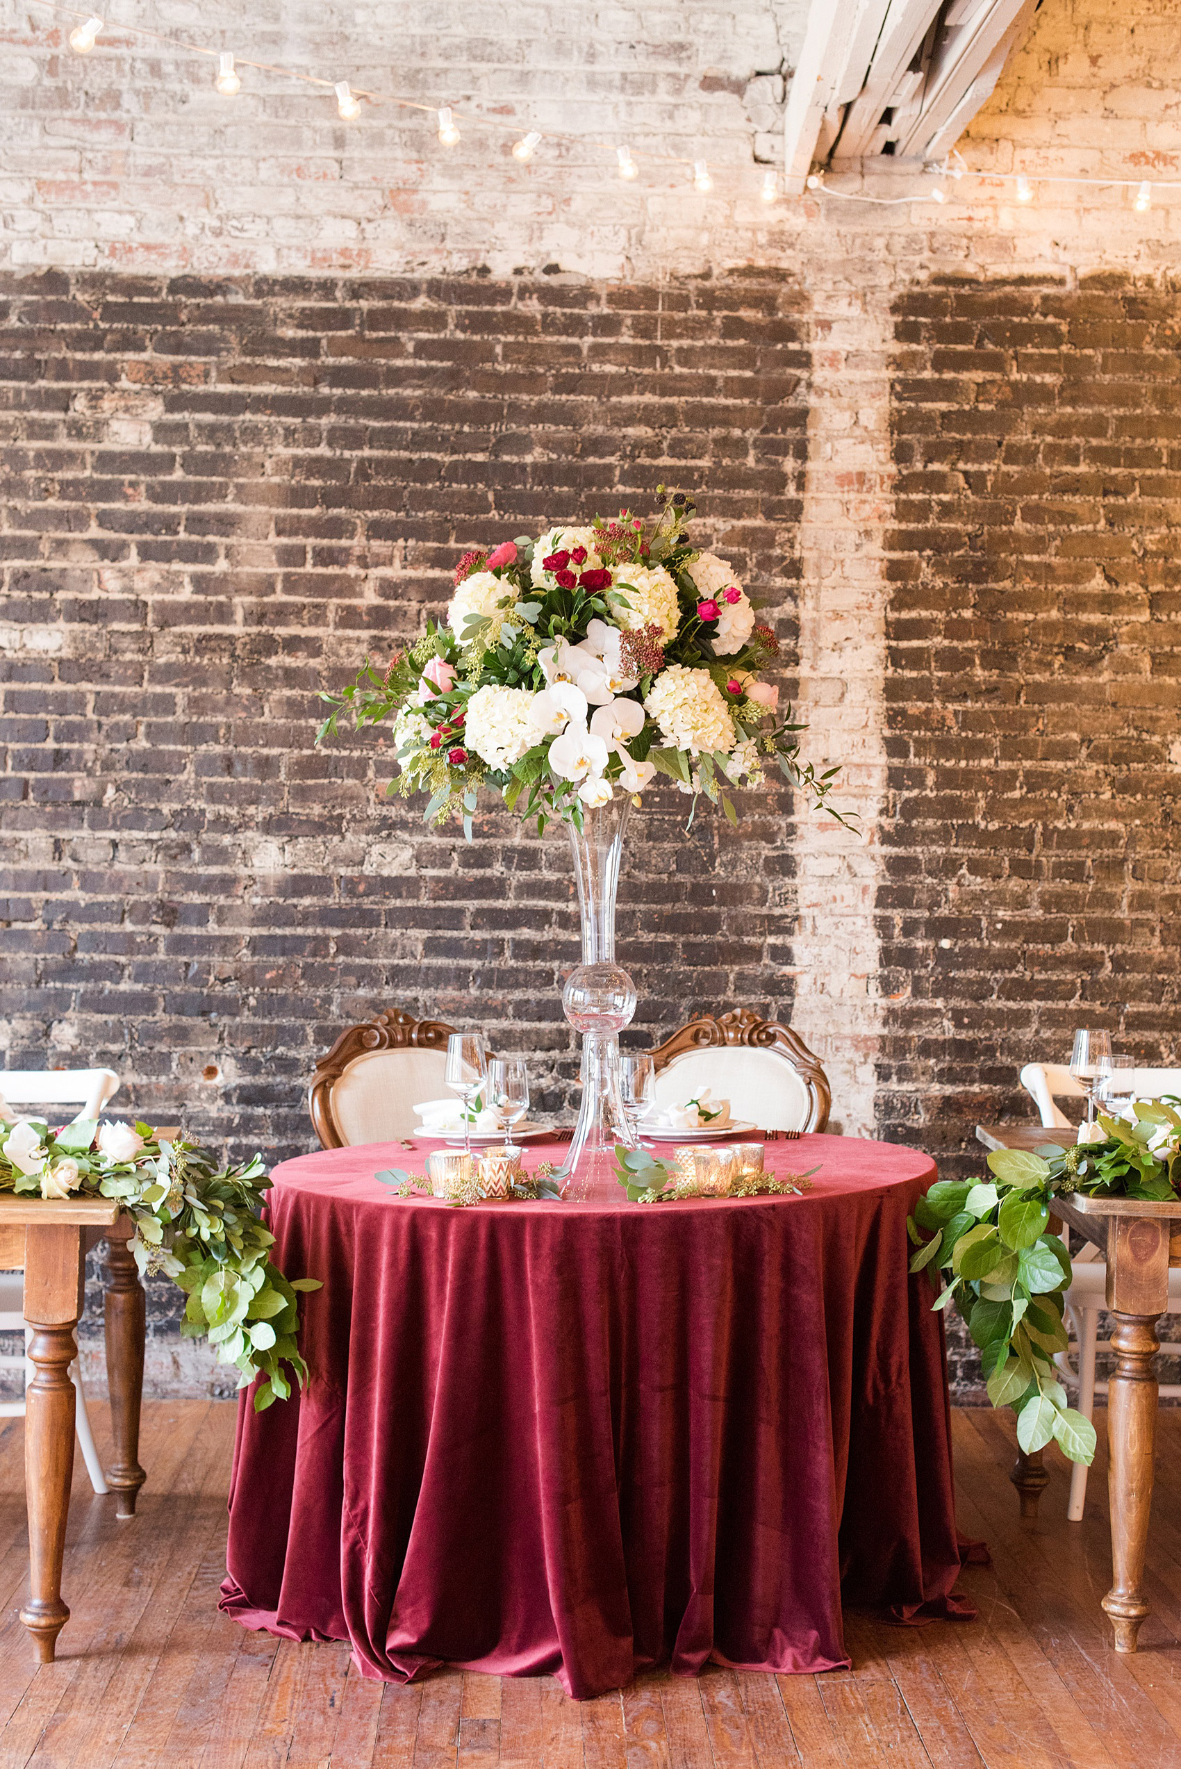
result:
[[[1027,1148],[1075,1141],[1073,1130],[1041,1125],[978,1125],[985,1148]],[[1181,1199],[1144,1203],[1133,1198],[1057,1198],[1055,1210],[1107,1260],[1107,1307],[1116,1316],[1116,1371],[1107,1390],[1107,1486],[1112,1514],[1114,1585],[1103,1597],[1116,1650],[1135,1652],[1144,1597],[1144,1551],[1153,1507],[1156,1440],[1156,1321],[1169,1309],[1169,1267],[1181,1265]],[[1036,1514],[1048,1475],[1041,1454],[1018,1458],[1013,1481],[1022,1512]],[[1027,1497],[1029,1495],[1029,1497]]]

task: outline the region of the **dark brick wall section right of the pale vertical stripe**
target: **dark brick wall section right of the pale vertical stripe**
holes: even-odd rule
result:
[[[1181,1053],[1181,297],[896,304],[880,1134],[979,1171],[1022,1063]]]

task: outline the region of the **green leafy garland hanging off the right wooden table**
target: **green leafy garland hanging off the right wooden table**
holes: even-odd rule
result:
[[[1101,1143],[1047,1145],[1038,1153],[997,1148],[990,1180],[939,1180],[907,1219],[918,1247],[911,1270],[944,1274],[937,1309],[955,1302],[979,1346],[988,1399],[1017,1412],[1025,1452],[1055,1440],[1071,1461],[1094,1456],[1094,1426],[1066,1405],[1054,1359],[1068,1346],[1063,1291],[1070,1252],[1047,1233],[1052,1201],[1176,1196],[1181,1178],[1181,1114],[1142,1100],[1135,1118],[1100,1114]],[[923,1229],[930,1240],[923,1238]]]

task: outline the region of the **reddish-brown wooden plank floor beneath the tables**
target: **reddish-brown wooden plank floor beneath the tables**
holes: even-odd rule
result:
[[[106,1419],[94,1408],[99,1444]],[[1103,1433],[1100,1433],[1101,1436]],[[1066,1523],[1048,1454],[1043,1520],[1006,1481],[1011,1417],[955,1415],[960,1527],[992,1567],[964,1585],[971,1624],[847,1619],[850,1672],[649,1673],[596,1702],[552,1677],[440,1672],[392,1688],[339,1645],[251,1635],[217,1613],[233,1406],[145,1408],[149,1486],[118,1523],[74,1477],[72,1619],[37,1668],[16,1619],[27,1571],[23,1424],[0,1431],[0,1769],[1181,1769],[1181,1412],[1162,1413],[1151,1543],[1154,1615],[1117,1659],[1103,1452],[1087,1518]]]

